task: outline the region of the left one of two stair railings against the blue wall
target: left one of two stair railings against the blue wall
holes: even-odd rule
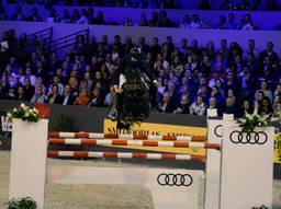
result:
[[[38,42],[43,42],[46,49],[50,49],[53,40],[53,27],[48,27],[36,33],[27,35],[29,45],[37,45]]]

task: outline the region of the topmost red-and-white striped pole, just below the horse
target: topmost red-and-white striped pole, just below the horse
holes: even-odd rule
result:
[[[205,141],[204,136],[157,136],[157,135],[119,135],[97,132],[49,132],[52,138],[87,138],[87,139],[139,139],[167,141]]]

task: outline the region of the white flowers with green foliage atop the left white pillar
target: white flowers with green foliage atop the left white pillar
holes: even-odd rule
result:
[[[35,107],[31,108],[22,103],[18,108],[13,108],[12,112],[9,112],[7,114],[7,117],[9,119],[20,118],[22,120],[37,123],[38,121],[38,109],[36,109]]]

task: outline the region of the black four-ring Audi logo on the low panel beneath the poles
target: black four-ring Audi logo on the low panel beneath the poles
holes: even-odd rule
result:
[[[161,173],[158,175],[157,182],[161,186],[190,186],[193,178],[190,174]]]

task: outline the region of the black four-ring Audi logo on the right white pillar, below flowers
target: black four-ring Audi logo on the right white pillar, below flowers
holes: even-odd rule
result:
[[[249,144],[265,144],[268,140],[268,136],[263,131],[241,132],[235,130],[231,132],[231,141],[233,143],[249,143]]]

